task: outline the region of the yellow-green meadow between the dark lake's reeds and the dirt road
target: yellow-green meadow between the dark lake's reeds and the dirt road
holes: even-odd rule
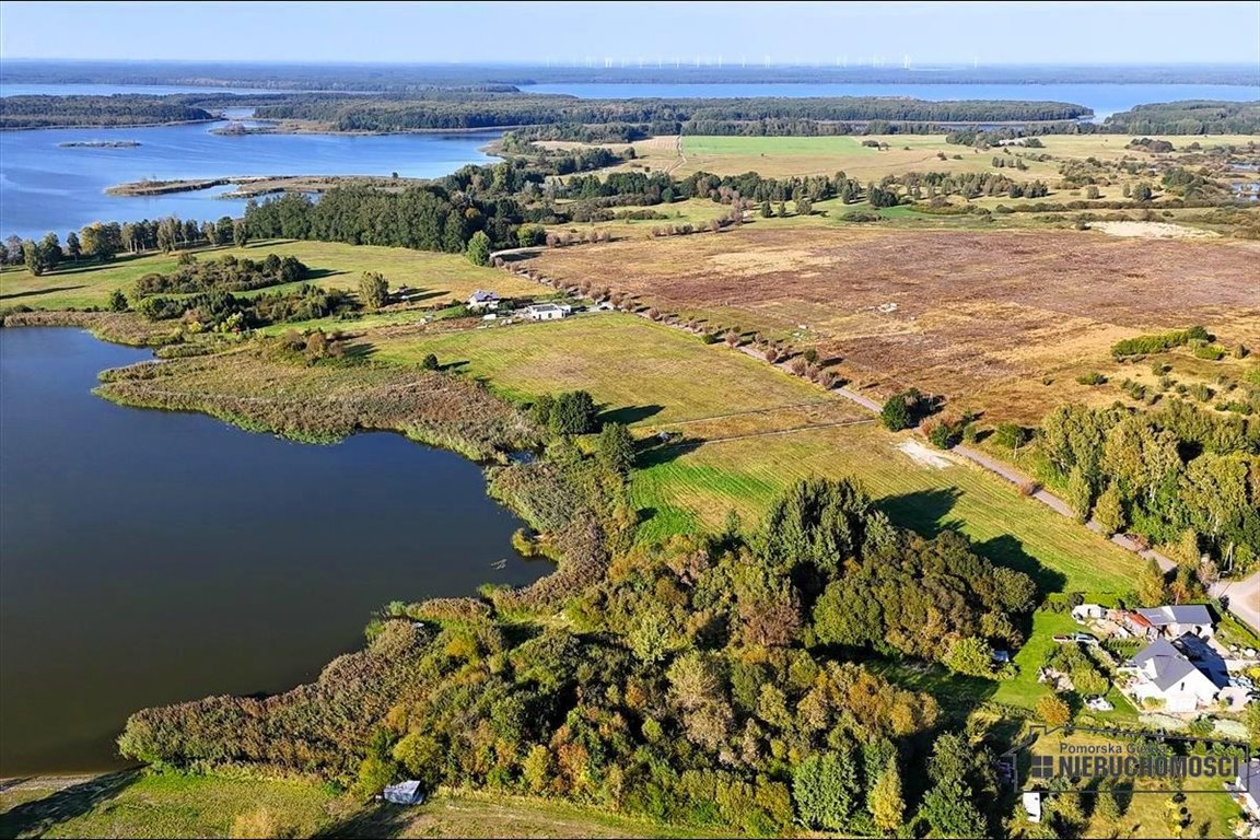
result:
[[[630,423],[640,437],[680,432],[680,446],[645,448],[635,472],[644,538],[717,528],[731,509],[755,523],[796,479],[852,475],[898,524],[929,534],[958,528],[982,552],[1032,572],[1046,588],[1115,589],[1139,567],[1131,554],[987,472],[919,465],[896,448],[903,436],[862,423],[866,416],[847,400],[641,317],[602,314],[372,341],[375,359],[415,364],[436,353],[518,399],[590,390],[609,417]],[[711,419],[690,422],[701,418]],[[838,424],[853,421],[859,424]]]

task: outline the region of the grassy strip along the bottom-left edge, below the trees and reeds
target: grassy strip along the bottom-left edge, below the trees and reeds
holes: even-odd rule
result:
[[[249,820],[271,830],[248,836],[277,837],[713,836],[525,797],[445,793],[398,807],[301,782],[217,776],[116,773],[0,791],[0,837],[232,837]]]

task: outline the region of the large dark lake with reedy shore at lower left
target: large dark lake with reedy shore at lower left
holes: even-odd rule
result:
[[[91,393],[149,358],[0,330],[0,777],[117,766],[140,708],[291,688],[392,599],[551,570],[512,550],[522,523],[452,452],[292,443]]]

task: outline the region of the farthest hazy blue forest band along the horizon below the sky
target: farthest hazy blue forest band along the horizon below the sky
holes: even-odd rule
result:
[[[837,67],[680,62],[622,67],[476,64],[249,64],[223,62],[25,62],[6,60],[5,84],[188,84],[316,91],[412,91],[451,86],[527,84],[1255,84],[1252,64],[1080,64],[931,67]]]

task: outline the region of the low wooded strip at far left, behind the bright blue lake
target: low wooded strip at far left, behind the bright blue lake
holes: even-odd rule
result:
[[[210,118],[209,111],[176,97],[118,94],[0,98],[0,128],[140,126]]]

